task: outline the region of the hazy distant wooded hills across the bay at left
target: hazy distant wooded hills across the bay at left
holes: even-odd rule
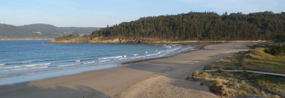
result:
[[[49,24],[14,26],[0,24],[0,38],[54,38],[92,33],[100,27],[56,27]]]

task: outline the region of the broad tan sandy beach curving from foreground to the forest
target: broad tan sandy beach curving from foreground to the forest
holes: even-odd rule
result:
[[[169,58],[110,69],[0,86],[1,98],[217,97],[186,76],[209,63],[248,49],[246,43],[219,43]]]

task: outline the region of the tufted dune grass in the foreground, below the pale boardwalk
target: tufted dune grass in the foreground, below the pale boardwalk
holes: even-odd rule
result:
[[[221,97],[285,97],[285,78],[249,72],[198,72],[192,76]]]

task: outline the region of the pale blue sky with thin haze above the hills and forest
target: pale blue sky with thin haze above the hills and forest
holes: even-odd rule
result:
[[[285,12],[285,0],[0,0],[0,23],[106,27],[188,12]]]

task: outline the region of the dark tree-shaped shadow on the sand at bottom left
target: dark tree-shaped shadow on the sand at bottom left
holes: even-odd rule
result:
[[[25,87],[25,89],[18,90],[21,89],[18,87]],[[88,86],[81,85],[77,85],[74,88],[63,86],[38,87],[31,85],[29,82],[24,82],[19,84],[3,85],[0,86],[0,88],[1,98],[109,98],[109,96],[102,94],[101,92],[98,92]]]

